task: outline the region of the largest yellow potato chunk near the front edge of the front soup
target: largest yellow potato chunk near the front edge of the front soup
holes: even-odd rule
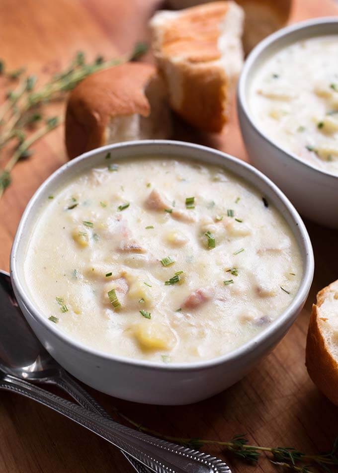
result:
[[[135,326],[134,335],[144,350],[168,350],[174,344],[170,329],[162,323],[142,320]]]

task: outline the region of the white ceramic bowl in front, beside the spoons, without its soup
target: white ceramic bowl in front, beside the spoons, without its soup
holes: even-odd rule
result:
[[[65,181],[101,164],[107,152],[114,161],[138,156],[183,157],[218,164],[243,177],[284,216],[301,251],[304,275],[287,310],[245,345],[222,357],[189,364],[163,364],[108,355],[72,340],[41,314],[27,291],[23,272],[25,251],[39,209]],[[22,216],[14,239],[10,273],[17,301],[28,323],[50,354],[72,375],[106,394],[137,402],[187,404],[223,391],[240,380],[269,353],[302,309],[313,278],[314,260],[305,226],[291,203],[263,174],[219,151],[174,141],[139,141],[110,145],[67,162],[36,191]]]

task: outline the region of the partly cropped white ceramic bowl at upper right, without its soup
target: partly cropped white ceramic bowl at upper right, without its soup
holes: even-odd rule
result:
[[[255,74],[271,55],[295,41],[330,34],[338,34],[338,18],[297,23],[261,41],[242,70],[237,104],[244,143],[254,165],[285,192],[303,216],[321,225],[338,228],[338,176],[316,168],[275,144],[254,123],[248,103]]]

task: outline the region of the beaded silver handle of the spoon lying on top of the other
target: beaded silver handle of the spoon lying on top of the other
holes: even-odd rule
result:
[[[22,394],[51,407],[129,453],[156,473],[231,473],[229,467],[215,457],[118,424],[11,375],[0,380],[0,389]]]

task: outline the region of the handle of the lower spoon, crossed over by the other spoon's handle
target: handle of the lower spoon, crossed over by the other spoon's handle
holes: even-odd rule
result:
[[[47,383],[52,383],[63,389],[85,409],[91,412],[96,412],[106,419],[111,419],[110,415],[103,409],[103,407],[100,406],[100,404],[96,402],[96,400],[91,397],[91,395],[87,393],[85,389],[75,381],[74,378],[72,378],[72,376],[70,376],[63,369],[60,369],[59,373],[60,374],[58,377],[51,378],[50,381],[47,381]],[[139,463],[127,453],[123,451],[121,451],[121,453],[138,473],[150,473],[151,470],[149,470],[145,465],[142,465],[142,463]]]

